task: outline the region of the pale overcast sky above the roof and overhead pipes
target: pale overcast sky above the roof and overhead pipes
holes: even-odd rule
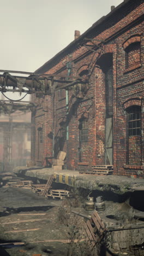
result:
[[[123,0],[0,0],[0,69],[34,72]]]

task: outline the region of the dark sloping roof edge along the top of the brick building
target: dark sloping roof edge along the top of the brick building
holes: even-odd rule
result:
[[[56,64],[53,62],[59,62],[59,59],[61,60],[62,57],[68,54],[68,51],[73,51],[77,48],[79,48],[79,43],[83,42],[83,39],[87,37],[87,34],[89,32],[92,32],[97,28],[99,25],[103,24],[107,19],[110,18],[111,15],[115,14],[119,9],[123,8],[124,5],[127,5],[129,2],[135,2],[135,0],[124,0],[121,4],[119,4],[116,8],[114,8],[110,13],[108,13],[106,16],[101,17],[98,21],[96,21],[88,30],[86,30],[83,34],[81,34],[80,37],[77,39],[73,40],[70,44],[68,44],[64,49],[59,51],[55,56],[53,56],[49,61],[45,62],[43,66],[39,67],[34,73],[45,73],[48,71],[50,68],[55,66]],[[123,17],[122,17],[123,19]]]

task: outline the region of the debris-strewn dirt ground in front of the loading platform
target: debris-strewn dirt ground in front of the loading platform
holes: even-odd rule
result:
[[[93,192],[92,196],[95,198],[98,194]],[[105,211],[99,214],[104,223],[108,226],[113,223],[125,225],[131,221],[133,217],[131,207],[125,202],[119,202],[117,196],[107,195],[107,197],[109,200],[105,201]],[[87,236],[83,229],[83,222],[87,219],[71,212],[76,211],[91,217],[93,211],[86,211],[83,208],[86,200],[84,197],[83,201],[79,197],[77,205],[74,200],[74,198],[50,199],[50,197],[46,198],[33,193],[29,189],[1,187],[0,243],[21,242],[23,244],[0,246],[0,256],[46,256],[50,254],[54,256],[97,256],[95,252],[89,253],[89,246],[86,242]],[[68,240],[74,239],[85,241],[68,243]],[[122,252],[121,255],[124,254],[125,252]]]

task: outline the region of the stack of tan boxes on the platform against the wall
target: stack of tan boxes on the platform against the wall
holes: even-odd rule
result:
[[[66,152],[59,151],[57,155],[57,159],[52,160],[52,168],[54,171],[61,171],[62,166],[64,165],[64,159],[66,156]]]

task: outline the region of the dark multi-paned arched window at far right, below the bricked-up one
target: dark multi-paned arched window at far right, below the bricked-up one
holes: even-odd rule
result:
[[[128,135],[141,135],[141,108],[133,106],[128,109]]]

